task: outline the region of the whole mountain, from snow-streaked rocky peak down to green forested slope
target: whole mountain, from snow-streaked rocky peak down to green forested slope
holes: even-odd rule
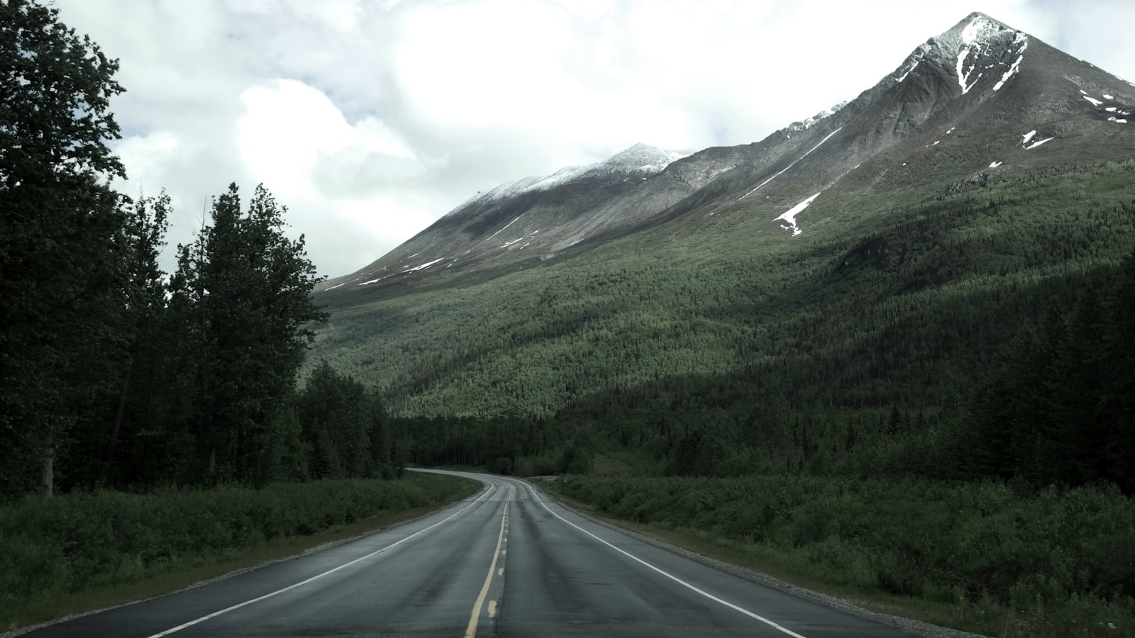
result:
[[[759,142],[636,145],[474,195],[328,282],[314,354],[421,413],[678,405],[754,375],[805,403],[932,405],[1129,252],[1133,111],[1135,85],[970,14]]]

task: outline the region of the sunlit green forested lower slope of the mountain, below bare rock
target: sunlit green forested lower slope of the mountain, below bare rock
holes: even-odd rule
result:
[[[320,297],[313,349],[407,417],[955,409],[1023,322],[1113,276],[1135,242],[1133,171],[865,192],[791,241],[693,216],[546,261],[340,288]]]

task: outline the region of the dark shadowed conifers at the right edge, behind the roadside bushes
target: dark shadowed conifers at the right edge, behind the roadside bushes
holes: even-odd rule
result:
[[[974,391],[959,433],[968,476],[1016,478],[1033,485],[1096,480],[1135,490],[1129,425],[1135,421],[1124,331],[1124,295],[1135,289],[1133,253],[1108,303],[1086,289],[1067,318],[1049,307],[1026,325]]]

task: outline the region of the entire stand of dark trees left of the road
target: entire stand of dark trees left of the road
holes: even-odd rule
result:
[[[296,389],[326,314],[286,208],[230,185],[162,272],[170,199],[109,185],[118,62],[53,8],[0,25],[0,496],[396,475],[373,393]]]

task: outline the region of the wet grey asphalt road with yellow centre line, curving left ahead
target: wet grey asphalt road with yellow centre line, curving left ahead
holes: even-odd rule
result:
[[[485,488],[404,526],[26,636],[909,636],[596,524],[523,480],[451,473]]]

